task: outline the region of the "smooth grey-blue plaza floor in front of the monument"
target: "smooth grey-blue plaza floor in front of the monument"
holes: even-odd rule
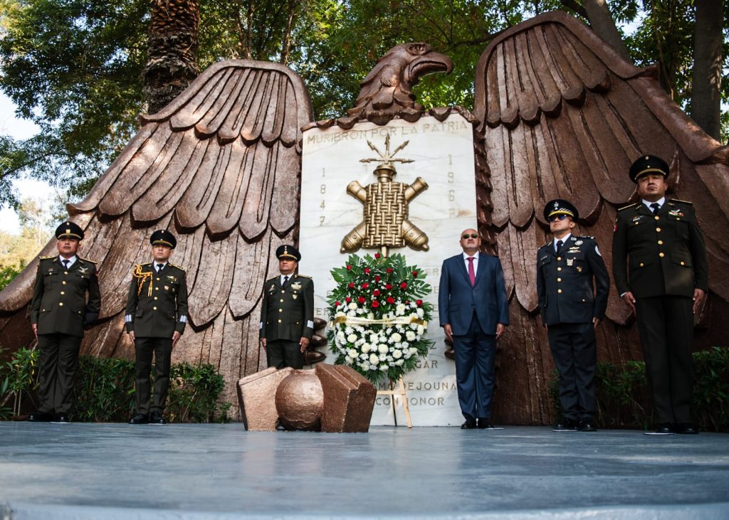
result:
[[[729,435],[0,423],[0,519],[729,519]]]

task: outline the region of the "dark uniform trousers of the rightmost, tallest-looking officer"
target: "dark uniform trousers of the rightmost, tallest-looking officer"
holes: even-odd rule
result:
[[[693,300],[687,296],[637,298],[636,315],[655,422],[691,422]]]

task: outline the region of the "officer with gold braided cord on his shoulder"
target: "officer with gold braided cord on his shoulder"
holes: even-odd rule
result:
[[[187,324],[187,283],[182,267],[169,262],[177,240],[160,229],[149,237],[152,259],[136,264],[129,285],[125,322],[136,350],[136,415],[130,424],[167,424],[163,416],[172,348]],[[155,393],[149,406],[149,373],[155,354]],[[150,413],[151,411],[151,413]]]

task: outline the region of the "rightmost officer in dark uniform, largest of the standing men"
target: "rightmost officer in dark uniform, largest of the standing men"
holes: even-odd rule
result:
[[[666,162],[652,155],[631,166],[642,200],[617,212],[612,274],[638,318],[655,433],[698,433],[690,415],[691,343],[709,264],[691,202],[666,200],[668,173]]]

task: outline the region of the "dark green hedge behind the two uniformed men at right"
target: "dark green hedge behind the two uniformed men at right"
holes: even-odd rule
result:
[[[691,413],[702,430],[729,431],[729,348],[693,353]],[[557,371],[550,379],[555,415],[561,417]],[[650,428],[652,402],[643,361],[623,366],[598,363],[595,377],[596,417],[601,428]]]

